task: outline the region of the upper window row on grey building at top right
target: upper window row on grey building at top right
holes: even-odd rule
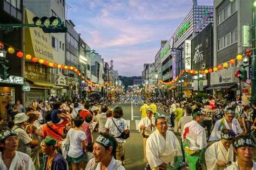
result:
[[[234,0],[224,10],[222,10],[217,16],[217,25],[223,23],[227,18],[237,12],[238,0]]]

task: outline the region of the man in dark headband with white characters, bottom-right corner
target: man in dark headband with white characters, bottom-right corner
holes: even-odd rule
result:
[[[234,152],[238,155],[238,160],[232,162],[228,166],[227,170],[239,170],[239,169],[256,169],[256,163],[254,162],[254,146],[255,141],[252,136],[240,134],[233,141]]]

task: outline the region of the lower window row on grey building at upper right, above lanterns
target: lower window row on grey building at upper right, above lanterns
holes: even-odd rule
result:
[[[237,29],[231,31],[230,33],[226,34],[224,37],[221,37],[218,40],[218,50],[220,51],[221,49],[224,49],[235,42],[237,42]]]

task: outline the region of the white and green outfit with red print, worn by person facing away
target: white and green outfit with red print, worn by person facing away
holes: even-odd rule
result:
[[[203,152],[207,146],[205,129],[196,121],[185,124],[182,134],[185,158],[191,170],[196,170],[198,162],[203,162]]]

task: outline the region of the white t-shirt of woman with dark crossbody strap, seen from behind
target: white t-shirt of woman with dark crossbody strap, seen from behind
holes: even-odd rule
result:
[[[123,132],[124,130],[127,130],[127,124],[125,119],[123,118],[112,118],[114,123],[116,123],[118,129]],[[112,134],[113,137],[116,138],[117,142],[122,143],[125,142],[125,139],[117,138],[121,135],[121,132],[117,129],[116,125],[114,125],[112,119],[108,119],[105,125],[105,128],[109,129],[109,133]]]

